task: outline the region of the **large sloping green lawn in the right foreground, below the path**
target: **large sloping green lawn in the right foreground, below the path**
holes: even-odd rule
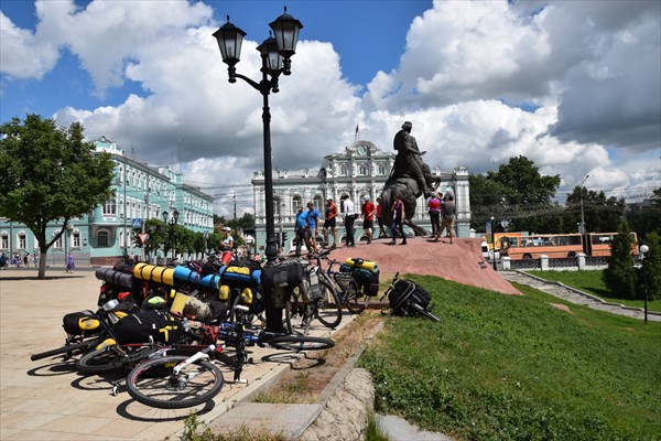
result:
[[[660,323],[410,278],[441,322],[386,319],[359,361],[377,411],[459,440],[661,440]]]

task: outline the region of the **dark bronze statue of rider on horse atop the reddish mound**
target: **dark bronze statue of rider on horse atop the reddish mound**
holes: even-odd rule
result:
[[[407,213],[404,224],[415,232],[415,236],[424,236],[426,232],[411,222],[415,214],[415,201],[422,195],[426,198],[434,194],[441,178],[434,178],[430,166],[422,160],[422,155],[426,152],[421,152],[418,148],[415,138],[411,136],[412,128],[413,125],[405,121],[402,129],[394,136],[392,143],[394,150],[397,150],[397,157],[390,171],[390,178],[386,181],[381,193],[381,204],[383,205],[381,218],[390,227],[392,224],[392,202],[397,194],[404,203]]]

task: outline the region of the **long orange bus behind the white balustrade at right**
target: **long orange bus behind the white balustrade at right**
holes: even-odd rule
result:
[[[617,233],[506,236],[500,239],[500,256],[507,256],[512,260],[539,259],[542,255],[559,259],[576,257],[581,252],[590,257],[608,257],[615,236]],[[636,233],[631,233],[631,255],[636,255],[638,252]]]

